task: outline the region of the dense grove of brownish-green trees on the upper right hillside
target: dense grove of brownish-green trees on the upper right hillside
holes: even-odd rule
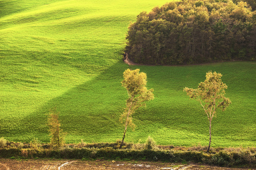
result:
[[[254,61],[256,11],[243,1],[170,2],[141,12],[126,39],[125,53],[137,63]]]

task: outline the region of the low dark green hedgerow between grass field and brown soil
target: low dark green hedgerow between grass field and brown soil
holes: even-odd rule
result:
[[[156,146],[153,149],[134,149],[132,143],[125,143],[125,148],[119,149],[117,143],[92,143],[80,147],[66,145],[52,150],[51,147],[2,148],[0,158],[56,158],[56,159],[110,159],[110,160],[147,160],[162,162],[193,162],[234,167],[246,165],[256,167],[256,148],[211,148],[210,153],[198,151],[207,147],[165,147]],[[104,146],[104,147],[102,147]]]

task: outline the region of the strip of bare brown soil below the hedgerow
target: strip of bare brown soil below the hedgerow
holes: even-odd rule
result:
[[[177,163],[161,163],[161,162],[122,162],[107,160],[45,160],[45,159],[29,159],[29,160],[11,160],[0,159],[1,170],[16,169],[58,169],[58,170],[77,170],[77,169],[216,169],[228,170],[238,168],[221,168],[209,167],[203,164],[177,164]]]

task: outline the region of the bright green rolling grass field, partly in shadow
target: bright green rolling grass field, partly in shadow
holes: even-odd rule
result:
[[[129,22],[165,1],[0,1],[0,137],[49,142],[49,109],[60,112],[67,143],[115,142],[127,92],[125,69],[148,75],[155,99],[134,114],[125,141],[150,135],[159,145],[208,145],[208,120],[184,87],[205,73],[223,74],[232,105],[212,123],[212,146],[256,146],[255,62],[196,66],[128,66],[122,61]]]

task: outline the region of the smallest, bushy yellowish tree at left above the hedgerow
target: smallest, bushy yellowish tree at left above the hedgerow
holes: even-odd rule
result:
[[[58,113],[56,111],[56,108],[50,109],[49,114],[48,114],[48,126],[49,126],[49,135],[51,136],[51,145],[54,148],[61,147],[65,143],[65,135],[60,128],[61,124],[60,121],[58,120]]]

